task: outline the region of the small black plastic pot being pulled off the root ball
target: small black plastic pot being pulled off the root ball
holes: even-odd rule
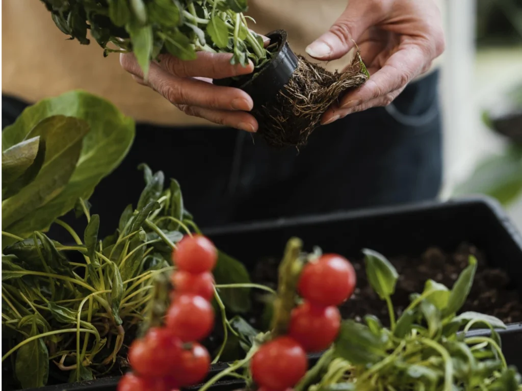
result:
[[[246,75],[238,79],[215,79],[214,84],[239,88],[252,97],[254,107],[261,107],[270,101],[284,88],[290,80],[298,64],[297,56],[292,52],[287,42],[287,32],[284,30],[271,31],[266,34],[270,38],[270,45],[277,43],[277,50],[262,69],[253,75]]]

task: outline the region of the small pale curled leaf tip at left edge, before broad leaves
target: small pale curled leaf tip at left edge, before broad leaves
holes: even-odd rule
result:
[[[40,136],[37,136],[2,151],[0,176],[3,187],[13,183],[31,167],[38,155],[39,144]]]

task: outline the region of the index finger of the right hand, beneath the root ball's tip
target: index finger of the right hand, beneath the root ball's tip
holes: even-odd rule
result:
[[[429,62],[425,57],[425,52],[419,46],[404,46],[390,56],[384,66],[360,89],[348,92],[341,99],[339,106],[349,109],[404,88],[414,77],[421,74],[425,64]]]

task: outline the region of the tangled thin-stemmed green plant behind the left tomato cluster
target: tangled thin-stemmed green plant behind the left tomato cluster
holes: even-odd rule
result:
[[[10,360],[23,388],[43,386],[49,377],[75,382],[122,370],[125,346],[167,310],[172,250],[184,234],[199,230],[183,206],[179,184],[171,180],[165,187],[161,171],[152,173],[147,165],[140,169],[146,186],[137,207],[125,208],[114,234],[98,237],[100,218],[91,216],[89,204],[80,199],[76,207],[88,221],[83,238],[65,222],[54,221],[75,245],[35,231],[4,248],[1,316],[8,348],[1,360]],[[216,268],[226,276],[224,281],[215,276],[223,283],[216,288],[228,292],[222,300],[217,295],[222,324],[225,332],[240,335],[227,319],[225,303],[241,303],[231,292],[248,294],[255,285],[244,266],[225,254],[220,253]],[[227,338],[215,361],[226,343]]]

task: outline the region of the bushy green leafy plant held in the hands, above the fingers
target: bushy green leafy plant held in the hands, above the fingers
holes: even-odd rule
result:
[[[197,51],[232,53],[232,63],[268,58],[263,39],[247,27],[246,0],[42,0],[56,26],[104,53],[134,52],[147,75],[151,60],[170,53],[194,60]]]

